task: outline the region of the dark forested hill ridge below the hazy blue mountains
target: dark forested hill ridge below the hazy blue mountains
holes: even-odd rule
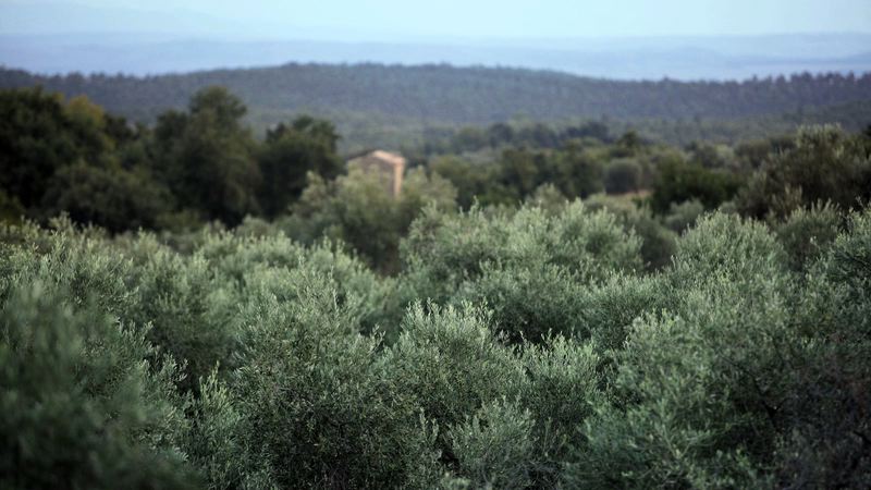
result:
[[[285,64],[188,74],[42,76],[0,70],[0,87],[85,94],[110,111],[151,120],[207,85],[240,95],[261,120],[291,113],[371,114],[425,124],[527,117],[738,119],[871,99],[871,73],[800,74],[744,82],[617,82],[557,72],[450,65]]]

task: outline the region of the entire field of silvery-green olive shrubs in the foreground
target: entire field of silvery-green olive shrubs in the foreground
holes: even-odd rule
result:
[[[868,488],[871,211],[0,231],[3,488]]]

